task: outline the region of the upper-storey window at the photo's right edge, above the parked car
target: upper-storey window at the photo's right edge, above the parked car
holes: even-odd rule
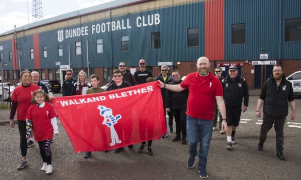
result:
[[[285,41],[301,41],[301,18],[285,20]]]

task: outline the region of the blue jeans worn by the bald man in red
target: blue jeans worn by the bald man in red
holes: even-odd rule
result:
[[[187,115],[187,139],[190,157],[198,155],[197,146],[200,141],[199,170],[206,170],[207,155],[212,136],[213,120],[201,120]]]

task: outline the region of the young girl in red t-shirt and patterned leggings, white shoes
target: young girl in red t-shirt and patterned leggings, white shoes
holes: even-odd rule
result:
[[[52,173],[50,142],[53,134],[59,133],[56,113],[49,102],[50,98],[44,90],[36,90],[26,114],[26,137],[29,138],[33,130],[43,160],[41,170],[46,171],[46,174]]]

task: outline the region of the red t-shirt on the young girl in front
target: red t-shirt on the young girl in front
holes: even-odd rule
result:
[[[51,119],[54,117],[56,117],[56,114],[50,103],[45,102],[44,107],[38,107],[36,104],[29,107],[26,119],[33,121],[33,133],[36,141],[52,139]]]

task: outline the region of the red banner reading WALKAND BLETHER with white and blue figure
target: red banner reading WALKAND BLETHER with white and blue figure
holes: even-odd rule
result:
[[[75,152],[112,150],[167,133],[159,82],[51,101]]]

